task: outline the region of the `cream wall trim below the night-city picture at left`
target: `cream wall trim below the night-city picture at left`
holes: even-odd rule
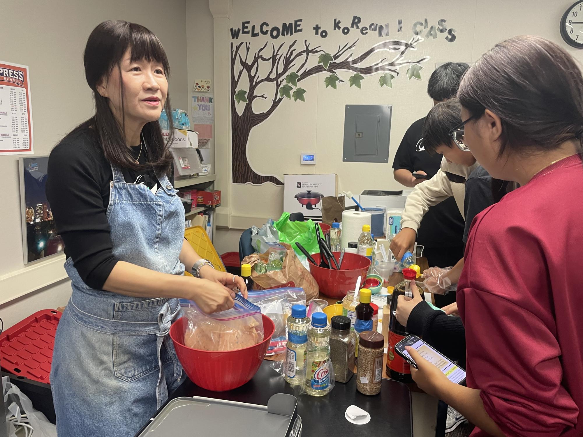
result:
[[[0,276],[0,305],[66,279],[65,255]]]

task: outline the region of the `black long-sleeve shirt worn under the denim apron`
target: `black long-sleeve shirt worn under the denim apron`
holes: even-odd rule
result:
[[[145,164],[146,147],[141,154],[139,151],[140,146],[132,147],[132,155]],[[141,172],[122,168],[122,174],[125,182],[131,184],[147,174],[150,182],[146,185],[160,186],[151,167]],[[168,178],[174,184],[174,175]],[[96,290],[103,288],[118,261],[112,252],[106,218],[112,180],[111,164],[101,151],[93,129],[69,133],[51,151],[46,193],[57,231],[65,243],[65,255],[73,259],[87,286]]]

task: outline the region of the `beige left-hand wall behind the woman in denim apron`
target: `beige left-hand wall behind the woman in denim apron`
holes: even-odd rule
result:
[[[92,29],[104,20],[137,22],[159,36],[170,59],[173,106],[187,108],[184,0],[2,1],[0,16],[7,36],[0,44],[0,61],[29,66],[36,155],[48,155],[62,136],[92,114],[93,101],[83,75],[83,48]],[[23,265],[16,156],[0,156],[0,186],[0,301],[4,301],[31,281],[41,283],[42,278],[31,280],[30,272],[38,268],[24,269]],[[38,276],[59,277],[62,263],[55,264]],[[11,280],[2,281],[8,275]],[[14,281],[16,277],[22,280]],[[0,317],[9,326],[10,321],[38,309],[66,304],[68,294],[68,282],[57,283],[0,306]]]

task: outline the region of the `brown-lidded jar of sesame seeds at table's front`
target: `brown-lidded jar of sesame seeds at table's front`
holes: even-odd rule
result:
[[[381,333],[373,331],[360,333],[356,388],[362,394],[372,396],[381,391],[384,342],[385,337]]]

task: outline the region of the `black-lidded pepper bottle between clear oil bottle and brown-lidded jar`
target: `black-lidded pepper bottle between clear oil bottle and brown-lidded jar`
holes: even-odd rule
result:
[[[330,360],[336,382],[349,382],[354,374],[354,347],[356,335],[350,329],[350,319],[333,316],[330,334]]]

